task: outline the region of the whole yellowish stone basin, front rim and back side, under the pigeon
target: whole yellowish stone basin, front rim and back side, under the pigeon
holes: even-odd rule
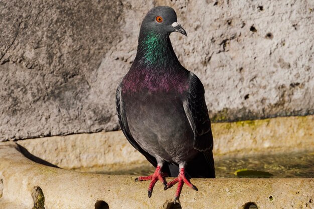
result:
[[[192,178],[199,191],[184,186],[180,204],[173,203],[175,188],[164,191],[158,182],[148,198],[148,182],[134,182],[129,174],[151,166],[121,131],[2,142],[0,208],[314,208],[310,172],[307,178],[219,175],[228,159],[310,155],[313,122],[314,116],[304,116],[212,124],[218,177]]]

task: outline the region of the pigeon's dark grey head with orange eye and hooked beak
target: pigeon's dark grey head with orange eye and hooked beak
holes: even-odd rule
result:
[[[179,32],[187,36],[187,32],[177,22],[177,14],[174,9],[166,6],[152,8],[141,24],[141,31],[163,35]]]

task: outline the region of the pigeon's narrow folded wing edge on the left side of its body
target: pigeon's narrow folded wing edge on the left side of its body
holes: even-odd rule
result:
[[[122,81],[122,80],[121,80]],[[127,123],[127,118],[125,115],[125,111],[123,108],[123,98],[121,96],[121,87],[122,87],[122,82],[120,82],[116,94],[115,94],[115,105],[116,105],[116,109],[117,109],[117,114],[118,114],[118,118],[119,118],[119,124],[120,127],[122,129],[123,134],[125,135],[126,139],[130,142],[130,144],[137,149],[140,153],[142,153],[146,159],[153,165],[153,166],[157,166],[157,161],[156,159],[151,156],[150,154],[148,154],[146,151],[144,151],[134,140],[132,134],[130,133],[129,127],[128,127],[128,123]]]

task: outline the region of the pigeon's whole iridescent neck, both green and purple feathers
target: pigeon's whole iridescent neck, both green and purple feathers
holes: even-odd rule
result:
[[[125,92],[184,92],[189,72],[182,67],[169,35],[140,34],[135,60],[123,79]]]

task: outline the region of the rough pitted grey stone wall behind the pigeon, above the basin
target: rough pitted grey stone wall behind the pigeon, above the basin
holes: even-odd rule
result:
[[[177,11],[213,121],[314,114],[313,1],[0,2],[0,141],[117,129],[141,20]]]

